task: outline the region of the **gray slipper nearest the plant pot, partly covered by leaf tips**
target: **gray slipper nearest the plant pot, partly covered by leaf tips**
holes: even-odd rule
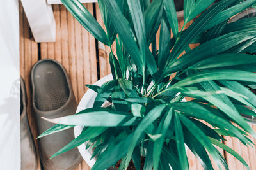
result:
[[[56,60],[36,62],[31,70],[31,86],[39,134],[54,125],[41,117],[58,118],[76,113],[77,103],[67,71]],[[72,139],[73,128],[39,139],[40,157],[45,170],[74,169],[81,162],[77,148],[49,159]]]

